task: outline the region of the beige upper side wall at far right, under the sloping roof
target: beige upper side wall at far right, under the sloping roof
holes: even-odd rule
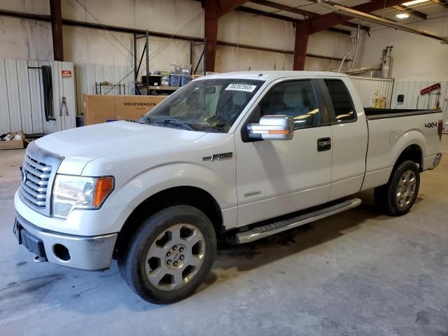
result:
[[[435,34],[448,36],[448,16],[430,17],[412,25]],[[448,45],[405,31],[391,28],[372,29],[370,35],[363,35],[359,62],[356,66],[379,64],[381,49],[393,45],[392,77],[399,80],[447,80]]]

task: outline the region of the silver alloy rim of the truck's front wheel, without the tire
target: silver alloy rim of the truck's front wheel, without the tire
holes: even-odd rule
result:
[[[186,286],[200,271],[205,259],[205,239],[192,224],[176,224],[153,241],[145,259],[145,274],[158,290]]]

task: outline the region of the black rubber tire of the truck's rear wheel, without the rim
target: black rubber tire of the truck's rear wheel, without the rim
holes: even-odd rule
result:
[[[398,198],[398,188],[400,179],[402,179],[403,174],[407,172],[412,172],[415,179],[415,186],[413,188],[412,195],[407,197],[406,202],[400,205]],[[396,166],[389,178],[389,181],[384,186],[375,188],[374,190],[374,200],[377,207],[389,216],[401,216],[407,214],[409,210],[414,205],[417,195],[419,194],[420,186],[420,172],[419,167],[416,163],[410,160],[400,163]],[[403,198],[402,198],[403,199]],[[401,199],[401,200],[402,200]]]

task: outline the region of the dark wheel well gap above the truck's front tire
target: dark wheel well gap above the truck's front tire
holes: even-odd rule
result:
[[[223,216],[221,208],[214,197],[200,188],[181,186],[160,191],[141,202],[125,221],[123,228],[118,234],[116,248],[120,248],[120,246],[123,246],[123,243],[129,241],[130,236],[148,216],[155,214],[160,209],[179,204],[187,204],[200,209],[209,217],[216,233],[221,232]]]

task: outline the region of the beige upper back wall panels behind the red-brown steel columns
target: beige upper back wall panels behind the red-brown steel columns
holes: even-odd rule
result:
[[[198,1],[188,0],[62,0],[63,18],[161,31],[167,34],[203,37],[204,13]],[[50,13],[48,0],[0,0],[0,9]],[[186,26],[186,27],[184,27]],[[102,29],[64,26],[64,57],[75,64],[133,66],[131,34]],[[0,17],[0,57],[52,59],[51,28],[47,22]],[[279,50],[294,48],[294,27],[290,22],[241,12],[220,19],[218,40]],[[190,43],[167,38],[150,39],[150,68],[167,69],[171,63],[188,63]],[[139,49],[144,41],[139,42]],[[309,52],[342,57],[349,47],[346,35],[324,31],[310,38]],[[195,48],[200,55],[200,48]],[[218,46],[216,71],[248,69],[292,69],[293,55]],[[307,58],[306,68],[334,69],[339,62]]]

